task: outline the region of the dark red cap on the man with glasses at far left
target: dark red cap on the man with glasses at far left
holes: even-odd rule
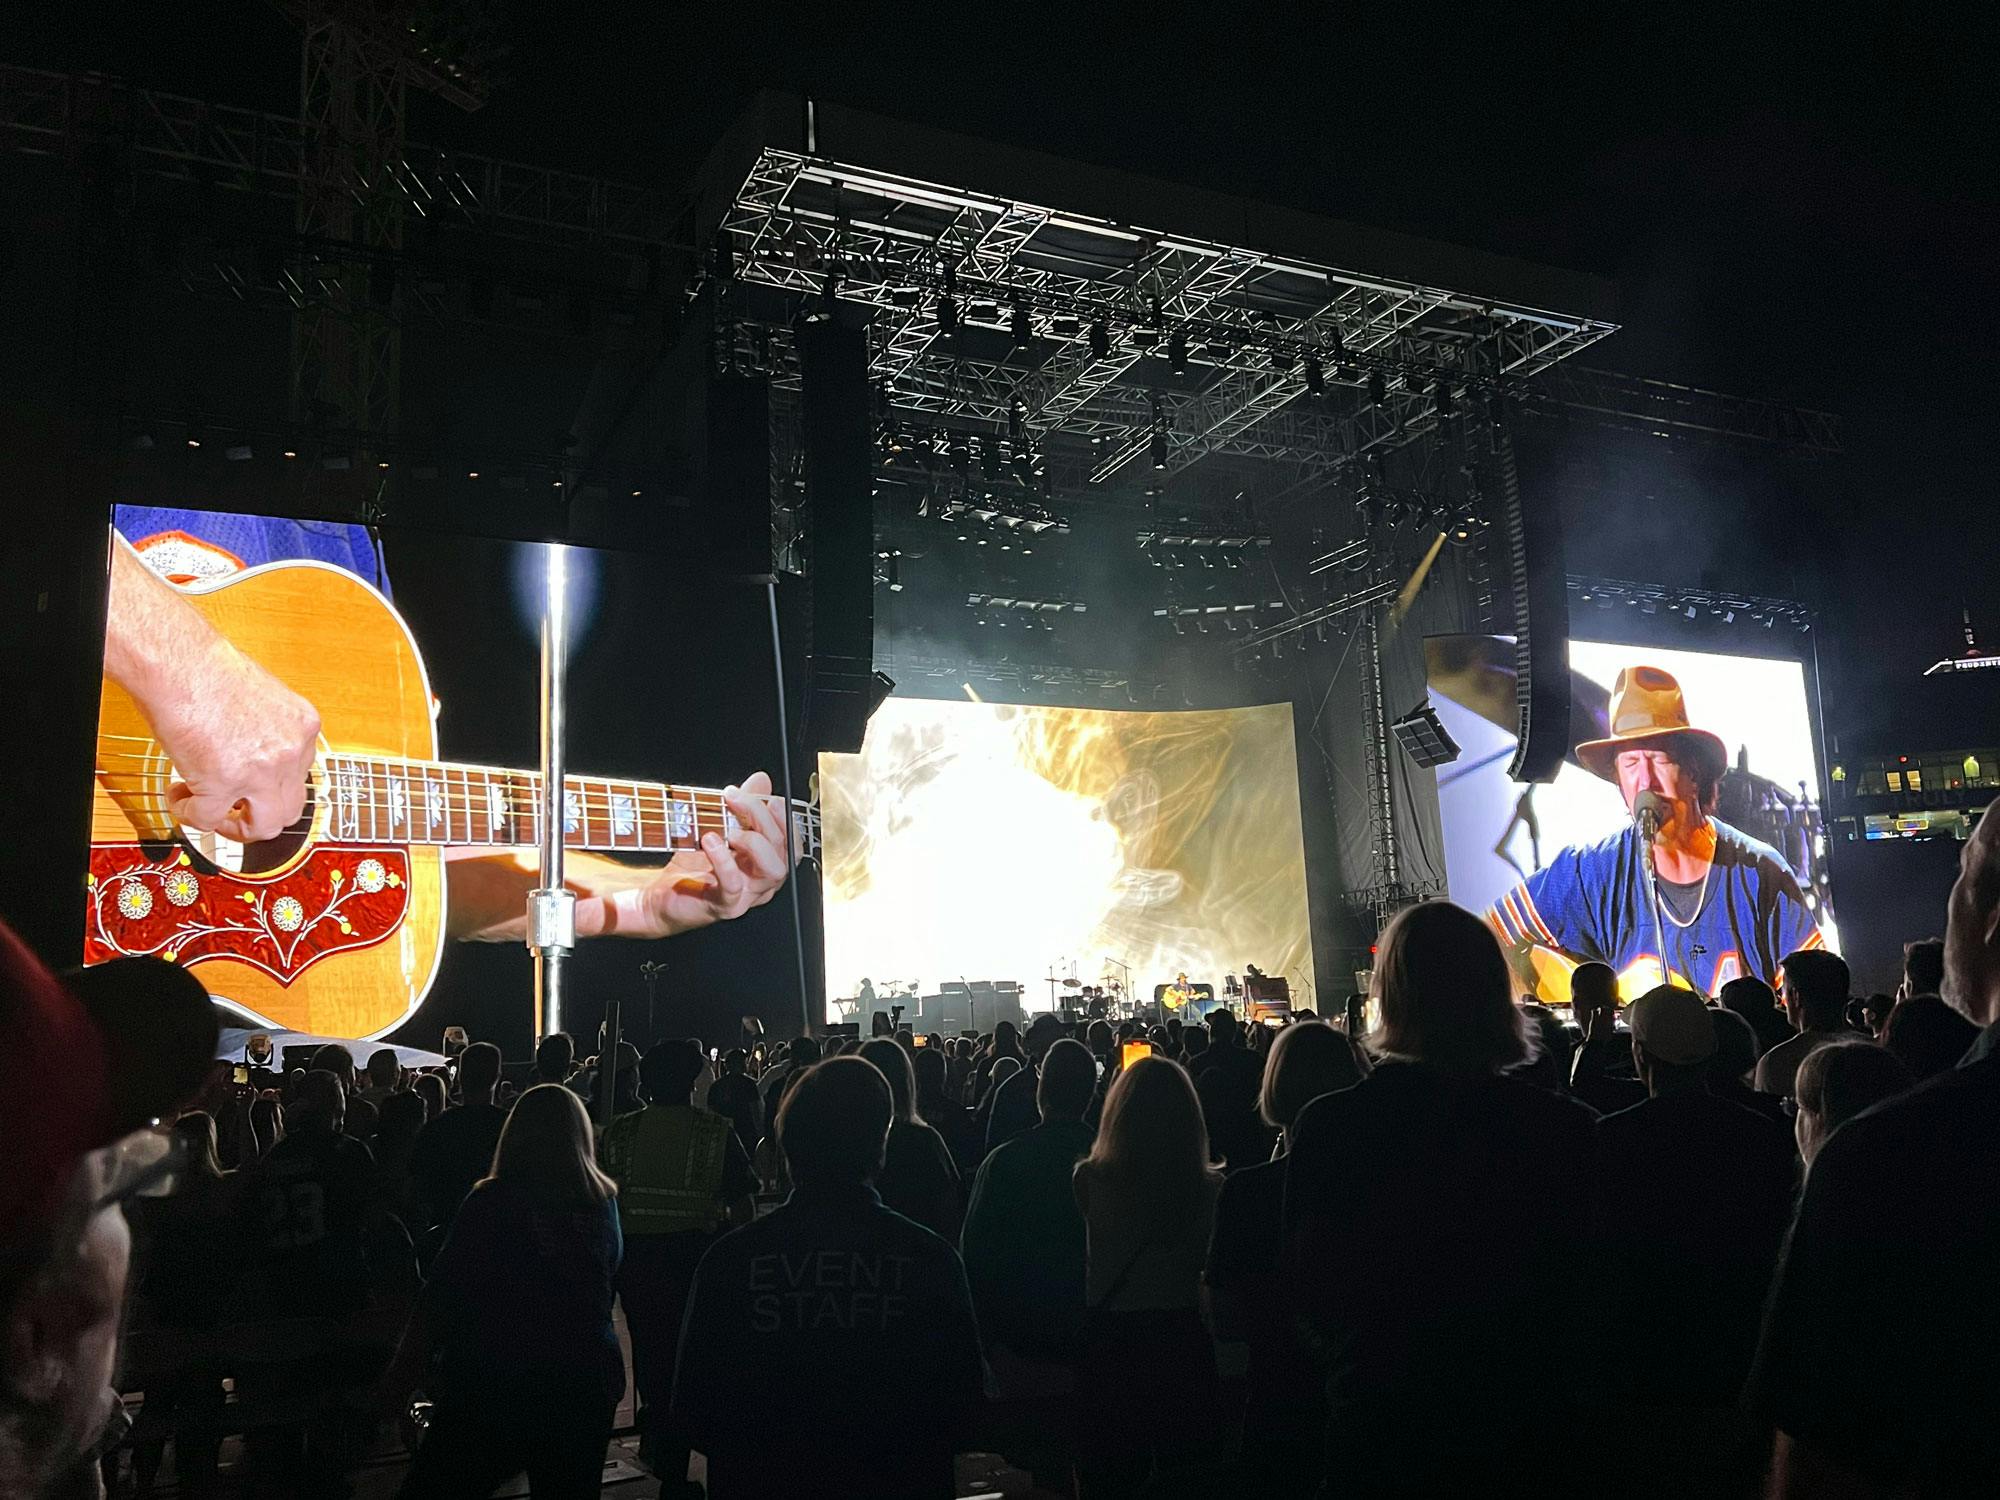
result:
[[[202,982],[158,958],[120,958],[58,980],[0,922],[0,1242],[42,1220],[76,1164],[172,1114],[216,1054]]]

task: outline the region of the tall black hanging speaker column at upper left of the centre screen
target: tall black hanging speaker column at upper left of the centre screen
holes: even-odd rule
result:
[[[838,318],[798,326],[800,430],[812,512],[810,750],[862,748],[882,694],[874,670],[874,444],[868,338]]]

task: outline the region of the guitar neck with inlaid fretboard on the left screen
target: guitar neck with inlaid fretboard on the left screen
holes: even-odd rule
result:
[[[542,842],[540,772],[358,754],[330,754],[322,772],[324,838],[336,844],[518,848]],[[672,854],[698,848],[706,834],[728,836],[740,826],[712,786],[564,776],[562,808],[562,844],[580,850]],[[800,856],[818,854],[812,808],[794,806],[792,838]]]

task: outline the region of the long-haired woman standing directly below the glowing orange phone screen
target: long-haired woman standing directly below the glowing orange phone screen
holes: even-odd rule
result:
[[[1216,1398],[1216,1352],[1200,1282],[1222,1176],[1208,1162],[1202,1106],[1182,1066],[1140,1058],[1118,1074],[1074,1188],[1088,1252],[1078,1384],[1170,1390],[1188,1410],[1204,1410]],[[1200,1430],[1174,1422],[1092,1424],[1078,1454],[1078,1494],[1138,1494],[1148,1480],[1186,1470],[1202,1448]]]

